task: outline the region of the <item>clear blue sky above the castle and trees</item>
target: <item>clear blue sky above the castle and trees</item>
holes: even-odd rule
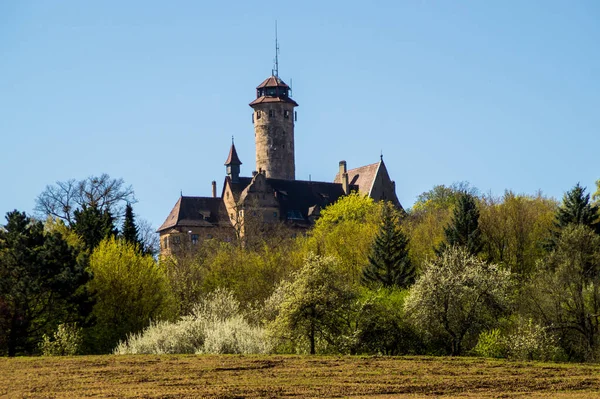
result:
[[[108,173],[158,227],[222,188],[271,73],[298,107],[296,176],[383,150],[400,201],[469,181],[560,198],[600,178],[597,1],[2,1],[0,213]],[[292,79],[290,79],[292,78]],[[3,219],[3,218],[2,218]]]

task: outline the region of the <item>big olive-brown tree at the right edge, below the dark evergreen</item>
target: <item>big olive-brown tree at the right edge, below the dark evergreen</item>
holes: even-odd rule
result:
[[[527,299],[533,315],[560,337],[576,360],[600,358],[600,236],[567,225],[540,262]]]

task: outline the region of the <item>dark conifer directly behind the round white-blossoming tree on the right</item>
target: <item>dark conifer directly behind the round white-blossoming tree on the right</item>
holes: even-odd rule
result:
[[[465,247],[469,254],[477,255],[483,248],[481,230],[479,228],[479,209],[475,197],[463,192],[458,197],[452,215],[452,221],[444,229],[446,242],[438,249],[438,254],[447,247]]]

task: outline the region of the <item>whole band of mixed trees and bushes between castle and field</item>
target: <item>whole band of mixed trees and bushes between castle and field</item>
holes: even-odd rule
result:
[[[436,186],[406,212],[352,194],[306,235],[269,226],[160,262],[134,234],[132,214],[133,228],[124,221],[116,231],[110,207],[84,201],[71,220],[9,213],[0,353],[597,361],[600,182],[598,190],[576,185],[559,203]],[[89,208],[93,223],[78,228]]]

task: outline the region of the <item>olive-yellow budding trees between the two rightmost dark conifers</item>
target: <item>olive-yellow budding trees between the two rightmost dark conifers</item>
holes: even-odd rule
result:
[[[533,273],[546,253],[542,243],[548,239],[556,207],[541,193],[526,196],[506,191],[502,198],[484,196],[479,219],[484,257],[521,276]]]

